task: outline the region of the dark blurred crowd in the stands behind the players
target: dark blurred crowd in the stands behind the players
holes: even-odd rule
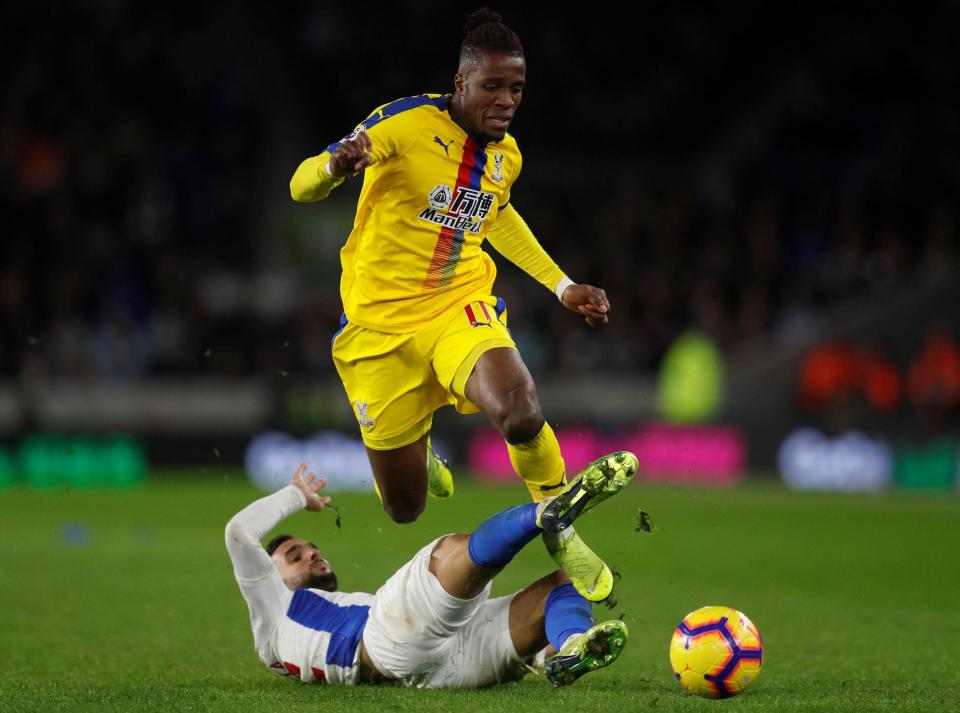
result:
[[[474,7],[5,7],[0,380],[335,381],[359,180],[297,205],[290,175],[379,104],[451,91]],[[733,371],[793,354],[741,388],[797,414],[862,396],[956,428],[960,4],[497,9],[527,54],[513,202],[613,306],[592,331],[498,258],[538,379],[653,379],[696,330]],[[903,394],[931,340],[928,408]],[[887,387],[811,366],[833,344],[882,360]]]

